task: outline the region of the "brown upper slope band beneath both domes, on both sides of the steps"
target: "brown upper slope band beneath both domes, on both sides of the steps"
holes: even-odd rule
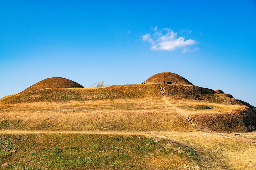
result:
[[[230,98],[228,94],[218,94],[212,89],[188,85],[163,85],[165,95],[173,100],[199,100],[211,103],[228,105],[246,105],[253,107],[244,101]],[[25,90],[24,90],[25,91]],[[0,103],[24,103],[24,102],[65,102],[87,101],[125,98],[162,98],[159,93],[159,84],[147,85],[113,85],[105,88],[45,88],[17,95],[9,95],[0,99]]]

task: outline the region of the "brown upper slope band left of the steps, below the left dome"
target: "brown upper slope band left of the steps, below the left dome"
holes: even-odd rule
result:
[[[113,85],[105,88],[47,88],[28,93],[9,95],[0,99],[1,103],[23,102],[65,102],[125,98],[158,97],[158,85]]]

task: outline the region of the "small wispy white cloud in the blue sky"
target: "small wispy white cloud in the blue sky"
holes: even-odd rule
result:
[[[174,32],[173,30],[169,28],[164,28],[161,31],[158,31],[157,26],[155,28],[151,28],[151,30],[154,30],[155,32],[151,35],[151,33],[147,33],[145,35],[142,35],[143,41],[148,41],[151,43],[151,49],[153,50],[168,50],[173,51],[177,48],[182,48],[184,53],[186,52],[192,52],[193,50],[198,50],[199,48],[195,48],[193,50],[190,50],[186,46],[196,44],[195,40],[186,40],[184,37],[178,37],[177,38],[177,32]],[[192,30],[188,31],[188,33],[191,33]]]

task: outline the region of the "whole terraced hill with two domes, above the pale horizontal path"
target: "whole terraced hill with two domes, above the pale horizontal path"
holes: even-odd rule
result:
[[[104,88],[77,88],[82,86],[60,77],[43,80],[0,99],[0,128],[186,131],[193,119],[196,128],[207,130],[211,125],[215,131],[256,129],[256,109],[249,103],[174,73],[152,77],[150,84]]]

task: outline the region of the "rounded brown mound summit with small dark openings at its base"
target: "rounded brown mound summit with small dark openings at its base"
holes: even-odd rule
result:
[[[194,86],[192,83],[190,83],[187,79],[183,78],[182,76],[170,73],[170,72],[163,72],[155,74],[151,77],[149,77],[145,82],[145,84],[151,84],[151,83],[157,83],[157,84],[176,84],[176,85],[191,85]]]

